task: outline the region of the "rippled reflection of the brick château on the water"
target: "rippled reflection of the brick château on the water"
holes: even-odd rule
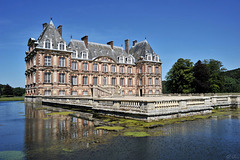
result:
[[[48,115],[52,112],[50,111],[52,108],[46,109],[42,105],[25,104],[25,148],[27,152],[39,150],[39,147],[51,148],[52,146],[60,150],[66,146],[71,149],[82,149],[106,141],[108,132],[102,129],[96,130],[94,127],[94,123],[98,120],[61,114]],[[57,108],[54,108],[55,110]]]

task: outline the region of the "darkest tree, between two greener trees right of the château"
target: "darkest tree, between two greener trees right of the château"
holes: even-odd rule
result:
[[[200,60],[195,63],[193,67],[193,90],[195,93],[207,93],[210,88],[209,77],[210,72],[206,64],[203,64]]]

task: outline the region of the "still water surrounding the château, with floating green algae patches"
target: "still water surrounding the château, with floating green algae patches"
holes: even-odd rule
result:
[[[145,123],[0,102],[0,159],[240,159],[239,150],[239,109]]]

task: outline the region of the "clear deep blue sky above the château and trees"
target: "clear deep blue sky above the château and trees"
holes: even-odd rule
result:
[[[147,41],[162,60],[163,78],[179,58],[216,59],[240,68],[239,0],[0,1],[0,83],[25,85],[25,51],[53,17],[70,36],[121,46]]]

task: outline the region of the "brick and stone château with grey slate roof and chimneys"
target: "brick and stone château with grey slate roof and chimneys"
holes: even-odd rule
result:
[[[109,96],[162,94],[162,63],[149,43],[113,45],[62,38],[62,25],[43,24],[26,51],[26,95]]]

